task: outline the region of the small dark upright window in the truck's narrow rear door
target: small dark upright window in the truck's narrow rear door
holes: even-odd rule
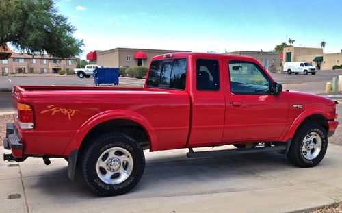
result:
[[[220,90],[220,75],[218,60],[196,60],[196,87],[200,91]]]

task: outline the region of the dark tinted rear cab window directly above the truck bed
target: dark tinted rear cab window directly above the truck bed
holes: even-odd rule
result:
[[[185,58],[156,60],[150,64],[147,87],[184,90],[187,75]]]

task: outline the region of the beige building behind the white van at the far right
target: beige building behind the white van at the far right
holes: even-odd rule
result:
[[[342,64],[342,53],[323,53],[321,48],[286,47],[283,62],[311,62],[322,70],[330,70]]]

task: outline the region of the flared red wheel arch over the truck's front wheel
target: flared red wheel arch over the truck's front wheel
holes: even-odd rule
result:
[[[318,108],[308,109],[302,112],[302,114],[295,118],[295,121],[293,121],[291,127],[289,127],[285,136],[280,141],[287,141],[293,138],[298,128],[305,123],[319,123],[328,132],[328,113]]]

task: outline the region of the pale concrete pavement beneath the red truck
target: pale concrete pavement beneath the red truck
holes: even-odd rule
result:
[[[293,212],[342,201],[341,146],[329,145],[315,168],[278,153],[187,159],[186,152],[146,152],[140,184],[117,197],[70,181],[64,159],[1,161],[0,212]]]

